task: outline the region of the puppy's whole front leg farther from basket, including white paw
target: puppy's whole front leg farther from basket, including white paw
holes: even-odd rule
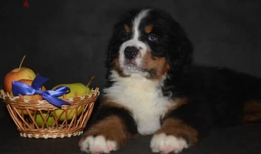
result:
[[[150,142],[152,152],[178,153],[195,145],[199,136],[201,137],[203,132],[208,130],[205,120],[196,112],[201,111],[197,110],[193,103],[169,111],[163,119],[162,128],[152,137]]]

